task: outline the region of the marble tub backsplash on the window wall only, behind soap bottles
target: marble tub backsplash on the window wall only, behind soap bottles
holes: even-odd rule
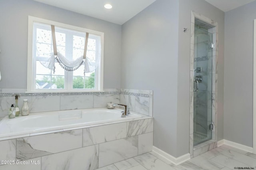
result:
[[[24,89],[22,89],[24,90]],[[109,101],[120,103],[120,89],[104,89],[104,92],[72,92],[72,93],[10,93],[10,89],[0,93],[0,117],[8,114],[11,104],[15,103],[15,94],[20,95],[18,106],[21,109],[23,99],[28,99],[30,113],[50,112],[70,109],[86,109],[106,107]]]

